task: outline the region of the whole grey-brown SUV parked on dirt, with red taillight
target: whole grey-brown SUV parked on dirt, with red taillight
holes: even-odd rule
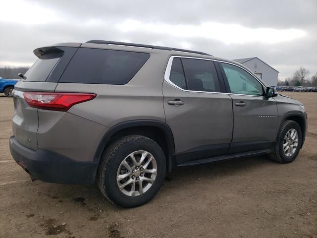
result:
[[[15,85],[10,138],[32,180],[97,182],[135,207],[176,166],[262,154],[289,163],[303,146],[304,106],[235,61],[99,40],[34,54]]]

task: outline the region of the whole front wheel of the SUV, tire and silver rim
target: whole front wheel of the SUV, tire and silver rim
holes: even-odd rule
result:
[[[296,121],[285,120],[280,128],[274,151],[269,154],[269,158],[280,163],[290,163],[296,159],[301,145],[301,127]]]

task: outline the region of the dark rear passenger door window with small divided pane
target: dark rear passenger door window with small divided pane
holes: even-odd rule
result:
[[[202,92],[220,92],[213,61],[175,58],[169,80],[182,89]]]

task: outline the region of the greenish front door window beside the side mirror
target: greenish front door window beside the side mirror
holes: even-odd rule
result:
[[[228,64],[221,63],[226,74],[231,93],[246,95],[263,95],[261,83],[244,69]]]

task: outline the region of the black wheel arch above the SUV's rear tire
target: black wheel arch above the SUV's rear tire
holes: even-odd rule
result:
[[[156,141],[166,157],[166,170],[170,172],[175,165],[175,144],[170,127],[159,120],[129,120],[120,122],[106,131],[95,152],[94,161],[100,162],[107,145],[129,134],[147,136]]]

